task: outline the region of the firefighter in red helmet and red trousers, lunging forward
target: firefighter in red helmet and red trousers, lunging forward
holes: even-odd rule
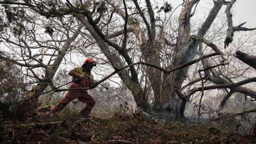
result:
[[[73,70],[69,71],[69,75],[73,77],[73,81],[71,83],[70,88],[76,87],[89,87],[94,84],[93,75],[91,74],[92,68],[96,66],[96,62],[92,58],[88,58],[84,61],[82,67],[76,67]],[[91,78],[89,78],[89,76]],[[94,88],[94,87],[93,87]],[[95,105],[95,100],[92,98],[90,94],[86,90],[69,90],[63,99],[59,101],[59,103],[51,108],[50,114],[54,114],[65,106],[68,105],[69,102],[78,99],[85,103],[84,107],[81,110],[81,117],[88,119],[89,114],[92,111],[93,106]]]

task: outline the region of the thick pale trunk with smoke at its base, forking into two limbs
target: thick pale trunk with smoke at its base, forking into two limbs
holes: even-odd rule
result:
[[[210,28],[213,20],[216,15],[219,13],[221,6],[225,0],[217,1],[214,4],[211,12],[203,23],[202,27],[198,30],[197,36],[204,37],[206,31]],[[193,16],[191,14],[191,9],[197,1],[185,1],[183,3],[180,15],[179,15],[179,33],[178,33],[178,47],[176,47],[176,52],[173,55],[173,67],[182,65],[193,60],[197,54],[197,46],[199,43],[196,43],[193,47],[189,46],[190,44],[190,17]],[[186,79],[186,75],[188,73],[188,67],[183,68],[181,70],[174,71],[173,74],[169,74],[165,76],[164,79],[168,79],[164,83],[164,90],[167,91],[163,93],[163,108],[169,109],[171,115],[176,116],[178,118],[183,118],[186,99],[179,100],[177,94],[175,94],[174,89],[181,93],[181,85]],[[177,118],[175,118],[177,119]]]

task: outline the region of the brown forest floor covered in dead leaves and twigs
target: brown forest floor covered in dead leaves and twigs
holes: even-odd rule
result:
[[[4,143],[254,143],[255,139],[215,124],[163,123],[142,114],[34,115],[4,119]],[[1,143],[1,142],[0,142]]]

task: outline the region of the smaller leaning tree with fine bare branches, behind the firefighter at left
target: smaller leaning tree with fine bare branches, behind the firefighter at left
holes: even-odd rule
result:
[[[51,2],[47,4],[52,5]],[[28,95],[36,98],[49,84],[52,86],[53,76],[65,55],[73,49],[71,43],[83,26],[75,23],[74,18],[51,19],[26,7],[7,4],[2,5],[1,20],[4,25],[2,45],[8,47],[13,55],[1,54],[0,58],[26,68],[25,75],[37,83]]]

